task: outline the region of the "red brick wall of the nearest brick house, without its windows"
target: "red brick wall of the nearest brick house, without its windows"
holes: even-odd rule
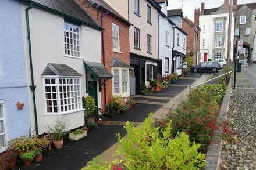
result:
[[[76,0],[79,5],[86,10],[87,13],[93,17],[99,26],[101,26],[101,13],[105,13],[106,11],[102,11],[101,9],[94,9],[90,2],[87,0]],[[112,50],[112,23],[119,26],[119,37],[120,37],[120,52],[116,53]],[[103,31],[104,34],[104,48],[105,48],[105,67],[111,72],[111,61],[113,58],[118,57],[122,59],[125,63],[130,65],[130,44],[129,44],[129,25],[124,23],[124,21],[118,19],[118,17],[108,13],[108,15],[103,16]],[[101,44],[102,48],[102,44]],[[103,53],[101,53],[101,63],[103,64]],[[103,81],[101,81],[103,82]],[[104,99],[104,85],[102,85],[101,91],[101,106],[102,111],[105,111],[105,99]],[[106,81],[106,104],[111,102],[112,96],[112,80],[109,79]],[[128,99],[129,100],[129,99]]]

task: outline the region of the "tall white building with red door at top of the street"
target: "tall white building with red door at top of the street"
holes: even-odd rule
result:
[[[204,9],[204,3],[201,3],[201,12],[199,16],[201,28],[200,41],[200,62],[208,59],[226,59],[227,58],[227,42],[229,28],[229,1],[218,8]],[[232,14],[232,28],[234,32],[234,17]],[[233,59],[233,39],[234,34],[231,33],[230,59]]]

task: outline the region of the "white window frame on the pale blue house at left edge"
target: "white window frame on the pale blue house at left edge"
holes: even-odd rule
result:
[[[3,145],[0,147],[0,153],[5,151],[7,149],[7,141],[8,141],[8,135],[7,135],[7,127],[5,122],[5,100],[0,100],[0,112],[2,111],[3,117],[0,118],[0,121],[3,121],[3,133],[0,133],[0,136],[3,135]],[[0,113],[1,114],[1,113]]]

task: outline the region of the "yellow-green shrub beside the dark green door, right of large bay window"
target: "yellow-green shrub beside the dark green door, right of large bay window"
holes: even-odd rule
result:
[[[95,103],[95,100],[92,96],[86,96],[83,97],[83,108],[84,108],[84,114],[87,118],[93,117],[93,114],[95,110],[97,110],[97,105]]]

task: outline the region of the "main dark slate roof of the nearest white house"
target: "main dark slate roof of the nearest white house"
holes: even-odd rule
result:
[[[101,28],[98,26],[97,23],[83,10],[80,8],[79,5],[77,5],[76,2],[73,0],[21,0],[23,2],[35,2],[33,3],[34,6],[38,6],[39,8],[44,8],[48,10],[52,10],[52,12],[56,13],[59,12],[59,14],[65,14],[71,17],[74,17],[75,19],[81,20],[84,23],[95,26],[98,28]],[[46,8],[45,8],[46,7]]]

